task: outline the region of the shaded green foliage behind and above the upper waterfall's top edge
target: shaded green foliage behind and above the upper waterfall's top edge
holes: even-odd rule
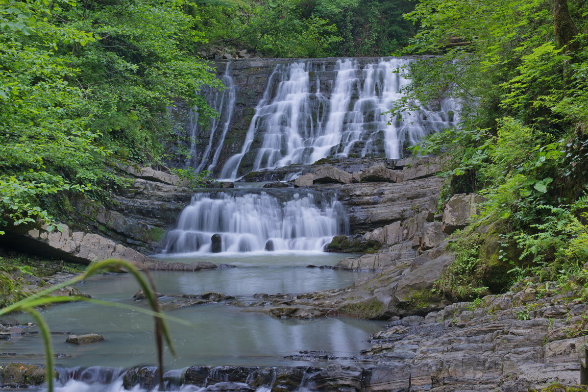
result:
[[[197,0],[193,15],[211,43],[285,58],[390,55],[413,27],[407,0]]]

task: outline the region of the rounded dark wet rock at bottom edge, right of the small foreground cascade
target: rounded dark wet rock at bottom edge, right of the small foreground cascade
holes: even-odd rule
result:
[[[329,365],[310,377],[320,391],[359,391],[362,387],[363,369],[341,364]]]

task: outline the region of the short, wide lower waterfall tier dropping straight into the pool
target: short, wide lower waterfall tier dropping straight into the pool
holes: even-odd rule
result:
[[[346,234],[333,192],[236,188],[199,192],[165,240],[164,253],[322,251]]]

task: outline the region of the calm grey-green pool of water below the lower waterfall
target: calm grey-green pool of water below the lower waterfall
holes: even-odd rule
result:
[[[216,291],[247,299],[255,293],[301,293],[347,286],[363,273],[305,267],[307,264],[333,265],[345,256],[326,253],[216,256],[207,259],[239,267],[152,274],[157,290],[164,294]],[[195,261],[194,257],[186,256],[168,258],[170,261],[180,259],[184,262]],[[79,289],[97,299],[146,306],[145,301],[132,299],[138,285],[129,274],[93,277],[80,284]],[[61,304],[42,311],[42,314],[52,331],[100,333],[105,337],[101,343],[75,346],[65,343],[66,334],[54,334],[55,352],[71,356],[56,359],[59,366],[131,367],[155,363],[153,320],[146,314],[92,303]],[[167,368],[305,364],[282,358],[302,350],[326,351],[339,357],[353,356],[369,347],[366,341],[368,336],[382,329],[384,324],[381,321],[342,317],[275,319],[258,311],[223,303],[184,307],[171,310],[168,314],[188,321],[189,325],[169,322],[178,356],[173,358],[166,350]],[[25,315],[19,316],[19,319],[21,322],[29,321]],[[41,337],[32,334],[0,341],[0,353],[19,354],[0,356],[0,363],[15,360],[41,363]]]

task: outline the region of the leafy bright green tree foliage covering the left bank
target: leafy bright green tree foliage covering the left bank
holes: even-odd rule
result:
[[[118,157],[158,162],[168,106],[218,85],[183,0],[0,5],[0,227],[40,220],[64,192],[124,186]]]

